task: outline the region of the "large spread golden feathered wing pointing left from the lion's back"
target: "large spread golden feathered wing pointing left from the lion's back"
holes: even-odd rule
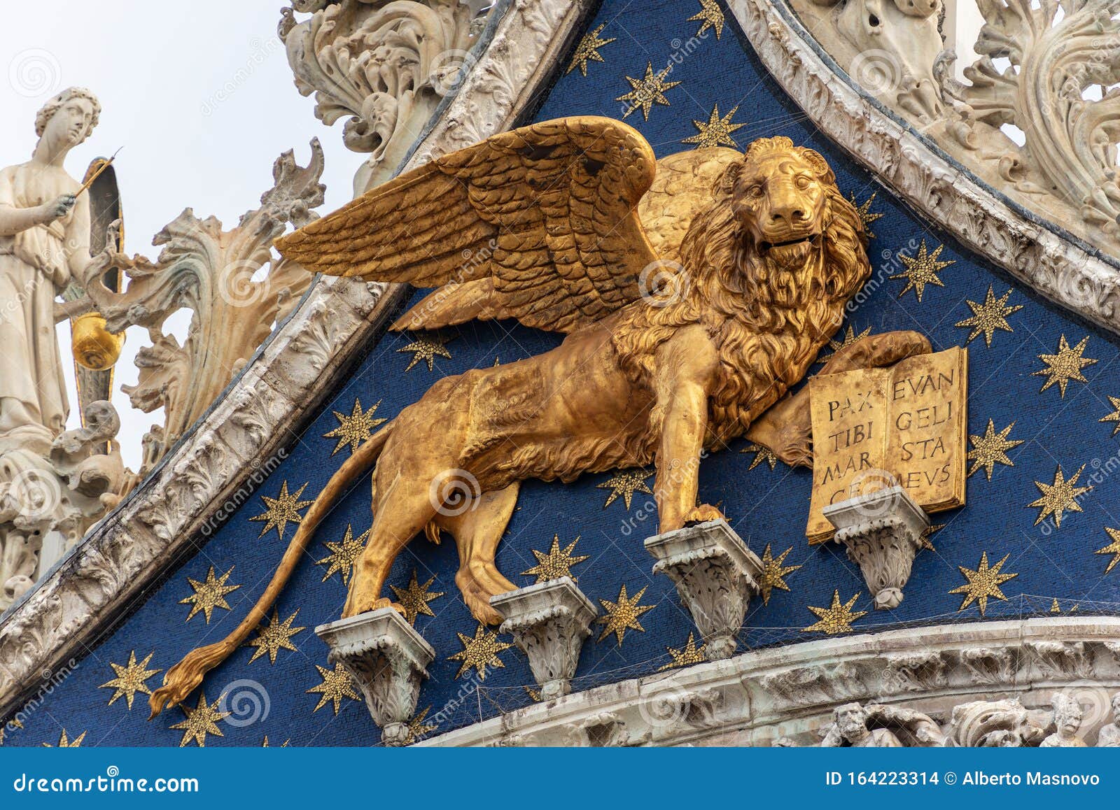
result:
[[[570,332],[640,296],[657,256],[637,216],[656,159],[618,121],[577,116],[488,138],[277,243],[312,272],[444,286],[402,320],[515,318]]]

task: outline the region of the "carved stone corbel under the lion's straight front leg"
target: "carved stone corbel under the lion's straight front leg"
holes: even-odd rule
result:
[[[709,520],[645,540],[703,637],[709,660],[730,658],[750,597],[758,593],[762,561],[726,520]]]

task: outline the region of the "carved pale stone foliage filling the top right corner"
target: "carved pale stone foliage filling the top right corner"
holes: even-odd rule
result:
[[[793,6],[859,86],[998,190],[1120,255],[1117,0],[978,0],[981,58],[963,83],[937,0],[818,2]]]

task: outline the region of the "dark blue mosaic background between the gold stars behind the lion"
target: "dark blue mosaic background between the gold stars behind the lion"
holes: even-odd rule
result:
[[[812,147],[827,157],[843,192],[857,201],[876,195],[870,211],[881,214],[871,225],[875,238],[869,254],[876,266],[866,301],[855,308],[846,326],[856,333],[916,329],[930,337],[935,348],[964,345],[970,329],[955,326],[972,314],[968,300],[982,302],[989,285],[996,296],[1011,290],[1009,305],[1023,309],[1010,314],[1014,332],[997,331],[991,346],[983,337],[968,343],[970,350],[969,432],[982,434],[989,418],[997,431],[1015,422],[1011,440],[1024,443],[1008,452],[1014,467],[997,464],[991,481],[982,471],[969,478],[968,506],[937,516],[945,526],[935,535],[935,550],[923,552],[915,562],[906,599],[894,611],[874,612],[867,587],[857,567],[847,562],[833,544],[809,547],[804,526],[809,509],[811,474],[778,463],[773,470],[763,462],[750,468],[754,453],[740,452],[745,442],[708,460],[702,467],[701,498],[721,503],[736,530],[759,555],[767,544],[775,556],[792,548],[787,566],[800,565],[786,576],[790,591],[775,590],[768,604],[752,603],[741,641],[745,647],[787,643],[820,638],[805,632],[816,621],[809,606],[829,606],[833,592],[841,601],[859,594],[853,610],[868,611],[853,628],[869,631],[884,627],[968,621],[980,618],[973,603],[959,611],[962,597],[950,594],[965,583],[959,566],[976,568],[987,552],[995,564],[1008,555],[1002,571],[1017,576],[1002,585],[1007,601],[989,600],[987,615],[1048,613],[1074,608],[1081,612],[1113,612],[1120,603],[1120,567],[1105,574],[1112,559],[1095,552],[1111,543],[1104,527],[1120,528],[1112,503],[1120,495],[1120,443],[1112,431],[1117,423],[1101,423],[1116,412],[1109,396],[1120,396],[1120,367],[1116,339],[1070,317],[956,245],[922,217],[877,185],[867,171],[851,163],[823,135],[813,130],[796,106],[766,75],[741,39],[730,13],[717,36],[708,27],[696,36],[702,20],[689,20],[701,11],[698,0],[607,0],[587,25],[603,25],[603,62],[591,60],[587,76],[579,68],[558,70],[559,77],[536,114],[545,120],[570,114],[601,114],[618,117],[626,105],[618,96],[629,92],[626,77],[641,78],[647,63],[662,69],[673,54],[681,55],[666,81],[680,84],[665,92],[669,105],[654,105],[648,121],[641,111],[626,121],[635,125],[660,156],[690,148],[682,140],[697,134],[693,121],[707,122],[713,105],[720,115],[737,107],[732,122],[745,124],[734,133],[739,147],[762,135],[784,134],[795,143]],[[941,260],[954,263],[940,272],[944,286],[926,286],[917,301],[913,291],[899,298],[905,280],[888,275],[904,270],[902,252],[916,255],[922,241],[930,251],[944,244]],[[874,288],[874,289],[872,289]],[[419,295],[419,293],[418,293]],[[1045,364],[1044,354],[1055,354],[1062,336],[1071,346],[1088,336],[1084,357],[1095,364],[1083,369],[1089,383],[1071,380],[1064,397],[1058,386],[1039,389],[1045,377],[1033,376]],[[298,437],[290,456],[262,484],[254,497],[235,514],[197,556],[171,574],[106,641],[78,662],[77,668],[54,687],[40,706],[26,713],[24,728],[7,728],[7,745],[57,744],[65,728],[73,742],[80,734],[83,745],[179,745],[181,729],[171,726],[184,719],[179,708],[147,722],[147,696],[138,693],[130,709],[122,697],[109,706],[113,688],[103,684],[114,677],[111,663],[125,665],[134,651],[139,659],[152,653],[149,669],[166,670],[192,648],[224,637],[245,614],[271,576],[293,527],[281,539],[276,530],[258,538],[261,522],[250,517],[264,511],[259,496],[276,497],[283,482],[291,491],[306,484],[304,499],[314,498],[326,484],[348,450],[332,455],[335,440],[324,434],[338,425],[334,411],[349,414],[355,398],[365,408],[380,402],[379,417],[392,417],[440,376],[469,368],[508,362],[544,351],[559,342],[557,336],[524,329],[515,323],[467,324],[447,330],[446,348],[451,357],[435,359],[429,373],[421,361],[405,370],[411,360],[402,352],[412,338],[389,335],[352,376],[339,384],[337,397]],[[433,431],[440,430],[432,425]],[[1027,505],[1039,497],[1036,481],[1052,483],[1061,464],[1066,477],[1086,465],[1079,484],[1093,490],[1079,501],[1083,511],[1066,510],[1061,528],[1051,520],[1035,525],[1039,510]],[[589,475],[570,484],[530,481],[522,488],[519,509],[500,547],[500,568],[515,583],[531,584],[533,576],[520,575],[535,564],[532,550],[547,552],[553,535],[561,547],[577,537],[575,554],[588,555],[573,573],[580,588],[599,605],[615,601],[625,585],[631,596],[645,588],[642,605],[653,605],[640,621],[644,631],[628,630],[619,646],[612,634],[597,641],[598,632],[585,644],[577,688],[587,688],[650,674],[672,661],[668,648],[680,649],[694,631],[666,577],[651,573],[653,559],[642,539],[655,531],[656,519],[650,497],[636,493],[629,509],[623,498],[604,506],[609,490],[599,488],[609,475]],[[1092,478],[1092,480],[1090,480]],[[380,732],[360,700],[343,697],[339,710],[327,703],[316,710],[320,695],[309,693],[323,681],[316,665],[326,667],[326,647],[312,629],[338,616],[346,588],[338,574],[323,581],[326,568],[317,565],[328,556],[324,541],[338,541],[347,526],[355,535],[370,525],[367,482],[354,489],[324,521],[305,562],[279,600],[279,615],[293,611],[295,627],[306,628],[292,637],[297,651],[280,650],[274,665],[268,656],[252,663],[252,648],[239,650],[211,672],[204,690],[211,703],[236,681],[251,680],[268,696],[268,714],[250,725],[218,722],[223,736],[209,734],[207,745],[259,745],[265,735],[272,745],[371,745]],[[430,591],[445,592],[431,602],[435,618],[421,615],[417,629],[435,647],[437,659],[429,668],[419,707],[430,707],[426,722],[433,718],[439,731],[473,723],[480,717],[508,710],[532,700],[525,685],[532,678],[524,657],[516,649],[502,651],[503,668],[489,668],[484,681],[474,672],[457,677],[459,661],[449,656],[463,649],[459,633],[473,637],[476,622],[458,597],[454,575],[457,567],[454,543],[435,546],[418,538],[399,557],[390,582],[404,587],[416,571],[420,583],[433,577]],[[217,576],[232,573],[230,585],[240,585],[226,599],[232,610],[217,609],[207,624],[202,613],[186,621],[190,610],[180,601],[193,590],[187,577],[206,578],[214,567]],[[510,641],[510,639],[503,639]],[[162,675],[148,679],[155,687]],[[258,687],[253,687],[258,688]],[[188,705],[194,707],[197,697]],[[195,741],[187,741],[194,744]]]

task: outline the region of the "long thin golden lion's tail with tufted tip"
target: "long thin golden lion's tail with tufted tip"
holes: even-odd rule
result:
[[[167,674],[164,676],[164,686],[152,693],[148,699],[148,705],[151,707],[151,715],[148,719],[162,712],[165,706],[171,707],[183,703],[203,682],[203,677],[206,672],[228,658],[261,623],[269,608],[272,606],[283,586],[288,584],[288,580],[291,578],[292,572],[296,569],[296,564],[302,558],[316,527],[327,512],[330,511],[338,496],[346,490],[351,481],[362,475],[377,461],[382,449],[385,446],[385,440],[392,431],[392,426],[393,423],[390,422],[377,431],[330,477],[330,481],[327,482],[327,486],[319,493],[319,497],[315,499],[315,503],[311,505],[311,508],[304,517],[304,521],[296,531],[296,536],[288,544],[288,550],[284,552],[283,558],[281,558],[280,564],[277,566],[269,586],[261,594],[253,609],[249,611],[249,615],[242,620],[241,624],[221,641],[192,650],[181,661],[167,670]]]

